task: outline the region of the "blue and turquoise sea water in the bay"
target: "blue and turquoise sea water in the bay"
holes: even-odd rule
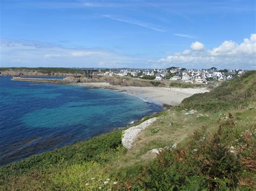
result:
[[[1,76],[0,165],[123,128],[162,109],[123,92]]]

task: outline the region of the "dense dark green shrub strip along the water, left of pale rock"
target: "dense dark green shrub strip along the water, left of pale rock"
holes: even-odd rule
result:
[[[65,163],[76,164],[81,161],[100,162],[100,155],[111,149],[116,149],[122,143],[122,130],[98,136],[85,142],[64,146],[53,151],[33,155],[22,161],[0,167],[0,183],[9,176],[26,174],[34,169],[47,171],[51,167]]]

